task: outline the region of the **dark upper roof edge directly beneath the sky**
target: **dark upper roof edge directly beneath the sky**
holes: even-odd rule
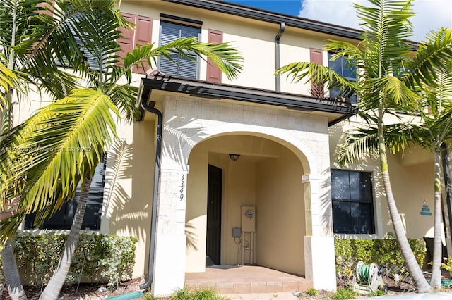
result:
[[[316,20],[309,20],[299,18],[291,15],[284,15],[281,13],[272,13],[258,8],[251,8],[247,6],[239,6],[237,4],[230,4],[223,1],[213,0],[165,0],[168,2],[182,4],[187,6],[194,6],[210,11],[219,11],[221,13],[230,13],[232,15],[239,15],[245,18],[254,20],[261,20],[270,23],[285,23],[288,26],[302,28],[306,30],[313,30],[316,32],[323,32],[330,35],[337,35],[340,37],[347,37],[350,39],[360,39],[361,30],[343,27],[340,25],[333,25],[319,22]]]

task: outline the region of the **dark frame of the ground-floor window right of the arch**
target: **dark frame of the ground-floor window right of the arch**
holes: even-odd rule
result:
[[[367,192],[369,193],[369,201],[359,201],[357,199],[352,199],[351,198],[351,192],[350,192],[350,199],[340,199],[340,198],[334,198],[334,191],[333,191],[333,172],[346,172],[348,174],[348,188],[350,189],[350,174],[351,173],[357,173],[358,176],[360,174],[365,174],[367,175],[367,182],[369,182],[369,186],[366,187]],[[360,177],[358,177],[359,182],[357,182],[358,184],[361,183],[361,179]],[[358,236],[371,236],[371,237],[377,237],[378,236],[378,232],[379,232],[379,217],[381,217],[379,215],[379,212],[376,209],[376,203],[377,201],[379,201],[376,196],[376,191],[375,191],[375,185],[374,185],[374,172],[372,171],[367,171],[367,170],[343,170],[343,169],[331,169],[331,213],[332,213],[332,219],[333,219],[333,233],[335,236],[354,236],[354,237],[358,237]],[[368,206],[368,211],[369,211],[369,218],[367,221],[370,220],[370,225],[368,226],[369,229],[367,229],[365,232],[362,231],[353,231],[353,228],[351,228],[351,230],[347,230],[347,232],[337,232],[334,226],[334,203],[347,203],[347,204],[367,204]],[[361,214],[359,214],[361,215]],[[348,216],[348,218],[352,218],[352,211],[350,211],[350,215]],[[337,220],[337,219],[336,219]],[[348,223],[347,225],[352,225],[350,223]],[[350,226],[352,227],[352,226]]]

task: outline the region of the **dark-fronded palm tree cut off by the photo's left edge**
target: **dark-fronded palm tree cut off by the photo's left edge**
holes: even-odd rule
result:
[[[105,13],[112,13],[112,5],[108,1],[71,1],[67,5],[59,5],[60,9],[53,13],[45,12],[40,6],[43,0],[5,0],[0,2],[0,58],[1,58],[1,126],[0,142],[2,152],[4,137],[10,134],[13,124],[12,106],[13,92],[26,96],[33,85],[49,92],[54,97],[62,97],[67,89],[75,86],[76,77],[57,68],[57,62],[71,57],[71,64],[76,67],[83,62],[83,54],[74,47],[76,40],[69,35],[73,20],[85,19],[86,15],[96,8]],[[47,1],[50,7],[50,1]],[[62,4],[62,1],[58,1]],[[45,4],[44,4],[45,5]],[[48,9],[48,8],[47,8]],[[50,11],[50,10],[49,10]],[[49,12],[47,11],[47,12]],[[93,18],[91,18],[93,20]],[[93,23],[95,24],[95,23]],[[56,58],[56,59],[55,59]],[[11,80],[8,72],[22,75],[20,80]],[[5,75],[5,76],[3,76]],[[21,85],[26,82],[27,85]],[[20,98],[20,97],[19,97]],[[4,203],[20,194],[22,180],[11,180],[13,170],[12,159],[1,161],[0,172],[0,208]],[[20,223],[20,215],[11,220]],[[11,220],[8,220],[11,227]],[[8,226],[6,226],[8,227]],[[1,232],[6,230],[2,227]],[[15,226],[13,226],[15,227]],[[3,245],[5,245],[3,247]],[[8,239],[0,239],[5,281],[12,299],[26,299],[20,283],[13,250]]]

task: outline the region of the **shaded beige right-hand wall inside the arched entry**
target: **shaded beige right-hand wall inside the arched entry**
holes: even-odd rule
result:
[[[302,165],[287,148],[256,168],[256,259],[259,265],[304,274],[306,235]]]

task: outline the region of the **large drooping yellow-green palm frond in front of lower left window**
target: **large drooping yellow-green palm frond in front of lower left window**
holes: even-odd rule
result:
[[[95,168],[102,159],[100,149],[115,135],[113,115],[119,118],[108,96],[93,89],[76,89],[42,108],[2,141],[8,149],[0,154],[2,159],[22,158],[10,180],[26,178],[21,191],[23,212],[42,211],[49,204],[57,211],[75,190],[86,165]],[[1,171],[6,173],[4,168]]]

